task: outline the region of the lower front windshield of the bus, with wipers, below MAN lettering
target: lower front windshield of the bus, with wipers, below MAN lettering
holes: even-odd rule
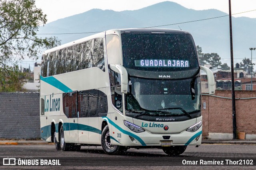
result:
[[[126,115],[134,113],[187,114],[200,111],[200,78],[150,80],[130,77]]]

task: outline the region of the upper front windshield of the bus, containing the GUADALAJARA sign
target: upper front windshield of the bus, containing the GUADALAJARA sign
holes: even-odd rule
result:
[[[198,68],[190,34],[122,33],[123,65],[145,71],[182,71]]]

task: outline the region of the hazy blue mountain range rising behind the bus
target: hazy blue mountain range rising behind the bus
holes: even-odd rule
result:
[[[82,33],[157,25],[166,25],[157,28],[179,29],[178,26],[180,26],[182,30],[192,34],[196,45],[202,47],[203,53],[218,53],[222,63],[230,64],[229,17],[226,15],[228,14],[219,10],[192,10],[166,1],[139,10],[121,12],[92,9],[82,14],[47,23],[44,27],[40,27],[38,33]],[[207,18],[214,19],[204,20]],[[168,25],[174,23],[179,24]],[[251,57],[249,48],[256,47],[256,32],[253,31],[255,28],[256,18],[232,17],[234,63],[240,63],[242,60],[240,58]],[[61,39],[64,44],[92,34],[54,36]]]

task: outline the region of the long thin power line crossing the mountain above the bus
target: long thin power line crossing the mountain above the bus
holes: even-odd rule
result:
[[[232,15],[243,14],[243,13],[252,12],[252,11],[256,11],[256,10],[250,10],[250,11],[245,11],[245,12],[239,12],[239,13],[232,14]],[[206,18],[206,19],[202,19],[202,20],[186,21],[186,22],[180,22],[180,23],[171,23],[171,24],[166,24],[166,25],[157,25],[157,26],[152,26],[152,27],[141,27],[141,28],[163,27],[163,26],[177,25],[177,24],[182,24],[182,23],[190,23],[190,22],[196,22],[196,21],[212,20],[212,19],[215,19],[215,18],[222,18],[222,17],[226,17],[226,16],[229,16],[229,15],[218,16],[218,17],[212,17],[212,18]],[[82,32],[82,33],[39,33],[39,34],[37,34],[37,35],[63,35],[63,34],[84,34],[84,33],[100,33],[100,32],[102,32],[102,31]]]

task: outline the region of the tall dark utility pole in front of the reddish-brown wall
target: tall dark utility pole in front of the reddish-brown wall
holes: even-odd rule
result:
[[[230,60],[231,60],[231,82],[232,82],[231,86],[232,86],[233,139],[236,139],[236,97],[235,97],[235,85],[234,85],[234,59],[233,59],[231,0],[229,0],[229,30],[230,30]]]

